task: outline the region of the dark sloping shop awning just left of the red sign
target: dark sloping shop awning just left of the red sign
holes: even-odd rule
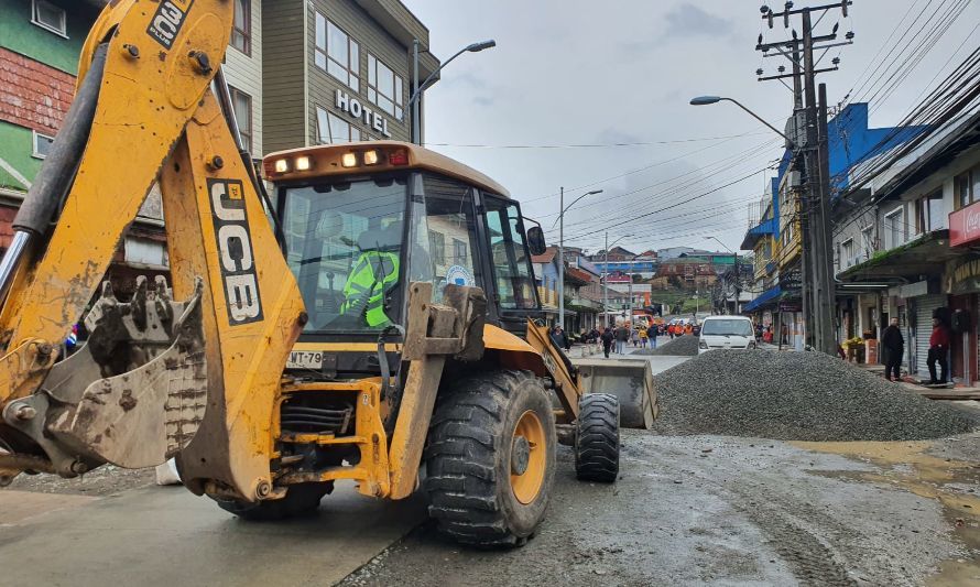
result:
[[[841,271],[837,279],[858,283],[896,278],[938,278],[946,261],[963,254],[963,251],[949,248],[949,230],[934,230],[901,247],[880,251],[863,263]]]

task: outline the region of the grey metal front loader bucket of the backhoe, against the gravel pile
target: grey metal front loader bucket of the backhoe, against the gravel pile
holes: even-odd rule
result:
[[[612,393],[619,398],[620,425],[650,428],[660,405],[653,387],[653,371],[644,359],[578,359],[582,393]]]

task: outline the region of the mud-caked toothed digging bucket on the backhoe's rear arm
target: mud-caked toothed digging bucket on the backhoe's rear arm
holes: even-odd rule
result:
[[[189,300],[174,302],[162,276],[153,287],[140,276],[132,301],[120,302],[102,284],[85,318],[87,344],[21,400],[44,414],[22,432],[58,472],[77,472],[79,461],[150,467],[190,443],[207,406],[203,291],[198,279]]]

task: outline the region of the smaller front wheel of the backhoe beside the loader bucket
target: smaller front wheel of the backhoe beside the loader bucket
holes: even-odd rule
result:
[[[584,481],[611,483],[619,477],[619,400],[588,393],[578,402],[575,472]]]

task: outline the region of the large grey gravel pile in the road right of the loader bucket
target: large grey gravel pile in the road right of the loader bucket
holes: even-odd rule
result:
[[[714,350],[654,381],[662,402],[654,430],[662,434],[915,441],[980,425],[980,414],[818,352]]]

